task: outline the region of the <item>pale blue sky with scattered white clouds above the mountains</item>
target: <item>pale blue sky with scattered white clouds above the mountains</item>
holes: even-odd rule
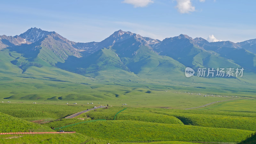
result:
[[[98,42],[122,29],[160,40],[186,34],[241,42],[256,38],[255,5],[255,0],[1,1],[0,35],[36,27],[75,42]]]

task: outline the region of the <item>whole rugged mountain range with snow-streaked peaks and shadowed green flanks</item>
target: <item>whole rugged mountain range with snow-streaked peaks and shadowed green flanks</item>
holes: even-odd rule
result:
[[[54,31],[30,28],[19,36],[0,36],[0,48],[22,55],[11,62],[23,72],[29,66],[43,66],[40,60],[83,75],[111,67],[135,74],[151,73],[165,66],[180,70],[243,67],[256,71],[256,39],[209,43],[201,37],[193,39],[181,34],[160,41],[118,30],[101,42],[76,43]]]

